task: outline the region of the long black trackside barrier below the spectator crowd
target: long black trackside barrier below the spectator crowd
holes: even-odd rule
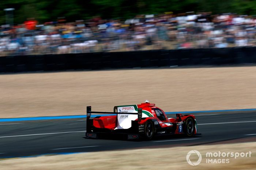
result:
[[[0,73],[256,63],[256,47],[0,57]]]

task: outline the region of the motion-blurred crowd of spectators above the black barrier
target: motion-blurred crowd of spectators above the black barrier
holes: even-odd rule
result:
[[[256,46],[254,16],[210,12],[0,27],[0,55],[35,55]]]

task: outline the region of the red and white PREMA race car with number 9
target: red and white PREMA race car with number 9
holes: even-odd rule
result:
[[[90,119],[92,113],[107,115]],[[87,106],[86,137],[98,138],[101,134],[123,134],[127,139],[147,140],[166,134],[193,136],[197,134],[197,123],[194,115],[176,114],[176,118],[168,118],[148,100],[138,105],[115,106],[114,112],[94,112]]]

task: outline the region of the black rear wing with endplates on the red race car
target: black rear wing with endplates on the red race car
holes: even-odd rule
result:
[[[92,113],[95,113],[95,114],[116,114],[116,115],[120,115],[120,114],[138,115],[138,122],[140,122],[140,120],[142,118],[142,108],[138,108],[137,113],[117,112],[117,106],[114,107],[114,112],[95,112],[95,111],[91,111],[91,106],[87,106],[87,113],[86,113],[87,123],[89,122],[88,120],[90,119]],[[86,128],[88,128],[88,126],[86,126]],[[89,130],[88,130],[88,132],[89,132]]]

